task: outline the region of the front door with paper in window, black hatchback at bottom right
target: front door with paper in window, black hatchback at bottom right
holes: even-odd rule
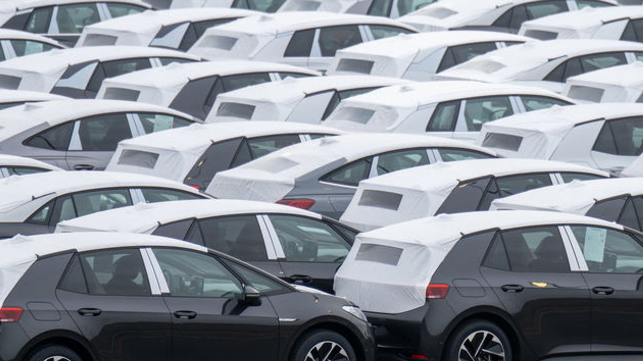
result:
[[[570,225],[592,297],[592,351],[643,351],[643,245],[640,236],[593,225]]]

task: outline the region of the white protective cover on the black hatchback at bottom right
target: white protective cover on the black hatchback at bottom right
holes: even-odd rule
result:
[[[463,235],[540,224],[622,229],[596,218],[543,211],[469,212],[402,222],[358,234],[335,274],[334,290],[367,312],[413,310],[424,304],[431,277]]]

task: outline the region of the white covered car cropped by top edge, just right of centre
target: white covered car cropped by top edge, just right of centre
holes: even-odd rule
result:
[[[438,0],[286,0],[280,12],[362,13],[395,19]]]

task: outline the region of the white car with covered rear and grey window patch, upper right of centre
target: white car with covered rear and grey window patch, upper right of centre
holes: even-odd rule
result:
[[[328,75],[368,74],[433,80],[434,74],[489,51],[529,40],[494,31],[401,34],[338,50]]]

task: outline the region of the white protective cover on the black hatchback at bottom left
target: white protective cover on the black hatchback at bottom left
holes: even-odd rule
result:
[[[41,256],[75,249],[78,252],[114,247],[181,247],[207,252],[201,245],[159,236],[127,233],[68,233],[23,236],[0,242],[0,307],[15,284]]]

